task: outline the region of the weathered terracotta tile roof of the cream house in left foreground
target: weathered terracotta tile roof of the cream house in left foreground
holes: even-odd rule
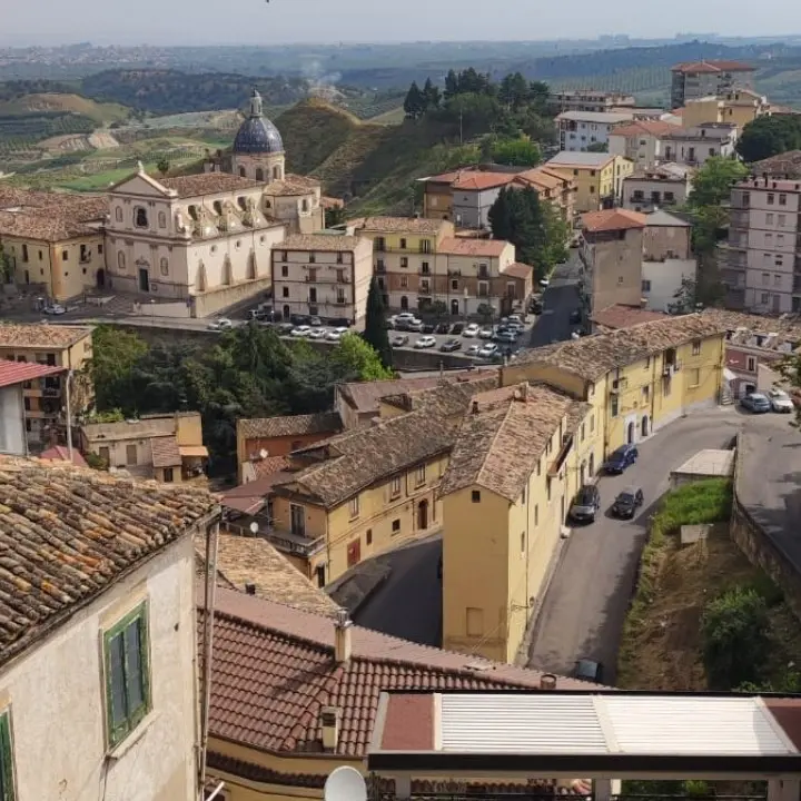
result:
[[[217,510],[197,488],[0,459],[0,662]]]

